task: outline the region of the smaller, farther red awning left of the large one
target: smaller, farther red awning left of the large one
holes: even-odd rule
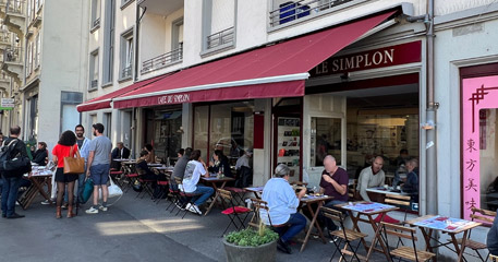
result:
[[[117,91],[111,92],[109,94],[96,97],[96,98],[87,100],[85,103],[82,103],[82,104],[76,106],[76,109],[77,109],[77,111],[83,112],[83,111],[92,111],[92,110],[104,109],[104,108],[111,108],[112,98],[118,97],[120,95],[124,95],[124,94],[126,94],[129,92],[132,92],[132,91],[134,91],[136,88],[143,87],[145,85],[151,84],[151,83],[154,83],[154,82],[156,82],[158,80],[161,80],[161,79],[163,79],[163,78],[166,78],[168,75],[170,75],[170,74],[160,75],[160,76],[156,76],[156,78],[151,78],[151,79],[148,79],[148,80],[136,82],[136,83],[131,84],[131,85],[129,85],[126,87],[117,90]]]

